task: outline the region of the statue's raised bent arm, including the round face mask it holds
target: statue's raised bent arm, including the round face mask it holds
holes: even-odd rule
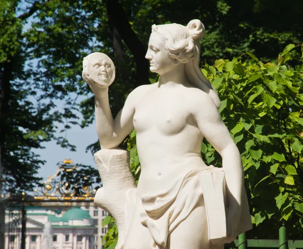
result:
[[[123,109],[113,119],[109,103],[109,86],[115,79],[115,65],[103,53],[92,53],[83,59],[83,80],[95,95],[96,130],[101,148],[117,148],[132,131],[137,87],[127,97]]]

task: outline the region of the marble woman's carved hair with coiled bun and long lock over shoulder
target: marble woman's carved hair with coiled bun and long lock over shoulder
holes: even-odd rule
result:
[[[219,109],[220,99],[216,90],[199,68],[199,40],[205,34],[205,27],[199,20],[191,20],[187,26],[171,23],[151,26],[152,32],[158,34],[165,43],[168,55],[185,64],[185,76],[196,88],[206,92]]]

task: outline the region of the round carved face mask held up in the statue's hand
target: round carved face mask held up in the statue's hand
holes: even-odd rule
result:
[[[89,77],[100,85],[109,85],[115,78],[115,66],[112,60],[103,53],[93,53],[84,58],[83,66],[87,67]],[[86,68],[85,67],[85,68]]]

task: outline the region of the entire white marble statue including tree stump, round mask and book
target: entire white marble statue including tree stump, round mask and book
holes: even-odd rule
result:
[[[102,53],[84,58],[82,77],[95,95],[102,148],[94,158],[104,187],[94,202],[117,221],[116,249],[221,248],[251,228],[241,157],[220,117],[220,99],[198,67],[204,34],[199,20],[153,25],[145,58],[160,80],[134,89],[115,119],[108,96],[112,60]],[[137,186],[128,154],[118,148],[134,128]],[[201,159],[204,137],[223,168]]]

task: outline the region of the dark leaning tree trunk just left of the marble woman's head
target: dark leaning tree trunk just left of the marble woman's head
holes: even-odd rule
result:
[[[137,87],[139,85],[149,83],[149,63],[145,59],[145,48],[131,28],[122,5],[118,0],[108,0],[106,4],[111,25],[117,29],[119,35],[125,41],[125,44],[135,58],[137,73],[134,86]]]

